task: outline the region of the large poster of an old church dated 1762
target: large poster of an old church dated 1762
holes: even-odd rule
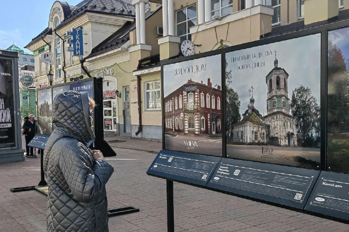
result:
[[[226,53],[227,157],[320,168],[320,34]]]

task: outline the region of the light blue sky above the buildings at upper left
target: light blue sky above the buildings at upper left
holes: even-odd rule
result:
[[[67,0],[77,5],[82,0]],[[24,48],[49,25],[49,14],[53,0],[1,1],[0,48],[6,49],[14,43]],[[24,49],[24,51],[29,51]]]

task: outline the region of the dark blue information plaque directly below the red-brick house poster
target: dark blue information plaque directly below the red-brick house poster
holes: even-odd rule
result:
[[[205,186],[222,158],[160,151],[147,174]]]

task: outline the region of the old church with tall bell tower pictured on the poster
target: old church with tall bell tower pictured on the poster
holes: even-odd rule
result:
[[[279,61],[275,57],[274,68],[266,76],[267,115],[262,116],[254,107],[252,86],[249,89],[252,96],[243,119],[233,127],[234,142],[297,146],[296,119],[290,114],[288,97],[289,74],[278,65]]]

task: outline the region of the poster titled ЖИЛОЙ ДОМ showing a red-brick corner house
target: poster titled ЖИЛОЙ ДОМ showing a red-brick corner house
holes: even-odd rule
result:
[[[165,149],[222,155],[221,55],[164,65]]]

